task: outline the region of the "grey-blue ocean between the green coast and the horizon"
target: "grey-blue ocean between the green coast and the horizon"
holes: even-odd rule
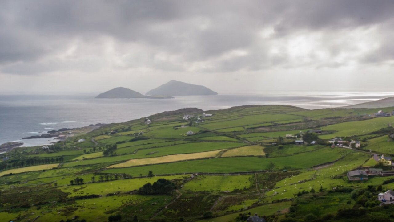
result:
[[[53,140],[24,139],[60,128],[97,123],[125,122],[185,107],[203,110],[238,105],[294,105],[321,109],[370,102],[394,93],[264,93],[215,96],[176,96],[175,99],[95,99],[94,96],[0,96],[0,144],[20,141],[24,146],[46,145]]]

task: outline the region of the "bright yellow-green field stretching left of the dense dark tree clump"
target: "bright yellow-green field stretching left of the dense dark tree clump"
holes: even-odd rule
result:
[[[145,178],[134,178],[134,179],[119,179],[119,180],[107,181],[107,182],[95,182],[95,183],[82,184],[82,185],[62,186],[59,189],[65,193],[68,193],[69,197],[85,196],[91,194],[100,194],[102,196],[105,196],[106,194],[110,194],[118,191],[126,192],[126,191],[136,190],[142,187],[144,184],[148,182],[153,183],[160,178],[172,180],[172,179],[180,179],[183,177],[185,176],[175,175],[175,176],[145,177]],[[96,176],[96,181],[98,180],[99,180],[99,176]]]

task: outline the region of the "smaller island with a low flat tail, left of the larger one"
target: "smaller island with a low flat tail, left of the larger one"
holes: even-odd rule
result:
[[[125,87],[117,87],[112,90],[108,90],[107,92],[103,92],[96,96],[96,98],[100,99],[130,99],[130,98],[148,98],[148,99],[171,99],[173,96],[162,96],[162,95],[151,95],[145,96],[139,92],[134,90],[125,88]]]

